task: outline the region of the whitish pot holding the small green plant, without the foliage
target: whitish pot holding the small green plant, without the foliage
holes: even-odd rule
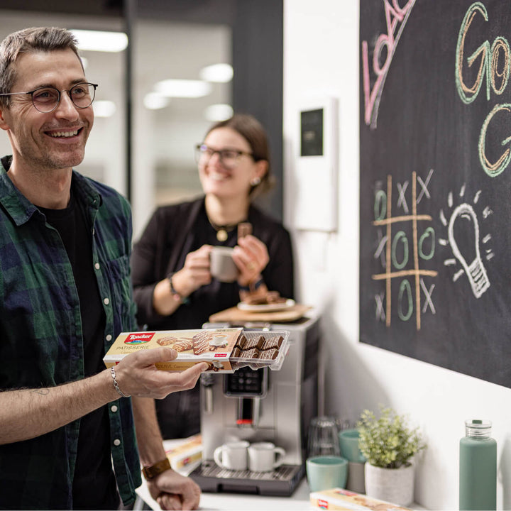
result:
[[[381,468],[366,463],[366,495],[401,506],[410,505],[414,495],[414,466]]]

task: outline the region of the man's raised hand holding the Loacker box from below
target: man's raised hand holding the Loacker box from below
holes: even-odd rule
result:
[[[133,397],[163,399],[171,392],[194,388],[207,363],[197,363],[180,373],[159,370],[157,362],[172,361],[177,351],[163,346],[142,350],[124,357],[116,366],[116,380],[122,392]]]

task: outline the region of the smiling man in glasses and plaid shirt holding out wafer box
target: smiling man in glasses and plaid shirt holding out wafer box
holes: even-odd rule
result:
[[[142,463],[162,507],[194,509],[199,487],[170,470],[153,398],[192,388],[207,365],[156,370],[177,356],[169,348],[102,363],[136,322],[128,203],[72,170],[96,87],[65,30],[28,28],[0,45],[13,152],[0,165],[0,508],[129,505]]]

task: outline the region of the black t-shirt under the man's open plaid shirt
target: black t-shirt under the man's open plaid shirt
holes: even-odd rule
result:
[[[60,233],[70,258],[78,290],[84,339],[84,372],[104,370],[104,310],[92,265],[92,243],[84,213],[71,195],[65,209],[45,209],[48,224]],[[108,408],[100,407],[80,419],[73,477],[73,508],[116,510],[119,494],[111,464]]]

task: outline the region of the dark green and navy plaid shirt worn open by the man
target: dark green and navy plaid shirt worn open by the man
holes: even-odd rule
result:
[[[129,257],[131,210],[113,189],[73,172],[92,236],[91,264],[106,315],[104,350],[136,330]],[[0,165],[0,389],[84,378],[78,292],[65,247]],[[111,455],[121,498],[141,484],[130,399],[109,405]],[[0,509],[71,509],[79,421],[0,446]],[[91,446],[94,449],[94,446]],[[91,488],[94,491],[94,488]]]

